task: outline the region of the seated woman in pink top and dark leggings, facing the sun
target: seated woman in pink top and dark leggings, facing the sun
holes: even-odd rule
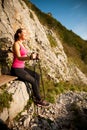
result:
[[[23,41],[26,39],[26,30],[19,28],[14,35],[14,44],[13,44],[13,63],[11,67],[11,74],[17,76],[22,81],[27,81],[31,83],[34,102],[37,105],[47,106],[48,103],[41,100],[39,93],[39,84],[40,76],[25,67],[25,60],[33,60],[37,58],[37,54],[32,53],[30,56],[27,56],[27,49],[25,48]]]

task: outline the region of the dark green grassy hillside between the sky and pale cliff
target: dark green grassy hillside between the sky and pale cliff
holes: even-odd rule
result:
[[[59,21],[44,12],[41,12],[30,1],[24,0],[39,18],[40,22],[49,30],[53,30],[64,46],[65,53],[70,62],[74,62],[85,74],[87,74],[87,41],[68,30]],[[31,17],[33,18],[32,14]]]

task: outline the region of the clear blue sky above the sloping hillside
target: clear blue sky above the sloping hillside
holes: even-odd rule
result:
[[[41,11],[51,12],[67,29],[87,40],[87,0],[30,0]]]

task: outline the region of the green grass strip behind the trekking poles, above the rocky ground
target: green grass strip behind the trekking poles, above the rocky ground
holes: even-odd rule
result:
[[[54,103],[57,95],[67,91],[87,92],[87,85],[82,85],[79,83],[71,84],[70,82],[63,82],[63,81],[59,83],[54,83],[54,80],[48,76],[48,70],[46,70],[45,68],[41,68],[41,69],[42,69],[42,80],[44,86],[42,85],[42,83],[40,83],[40,93],[41,96],[44,97],[44,91],[43,91],[43,87],[44,87],[45,98],[47,101]],[[40,73],[38,64],[36,67],[36,72]]]

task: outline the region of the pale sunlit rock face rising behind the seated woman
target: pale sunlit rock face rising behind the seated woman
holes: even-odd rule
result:
[[[31,17],[32,14],[32,17]],[[48,71],[48,75],[55,81],[83,82],[87,84],[86,76],[74,65],[69,65],[58,36],[43,26],[36,14],[29,9],[23,0],[0,1],[0,38],[8,38],[13,43],[15,31],[19,27],[27,30],[26,44],[33,51],[39,50],[42,66]],[[57,46],[51,47],[47,34],[51,33]],[[7,44],[4,42],[3,44]]]

